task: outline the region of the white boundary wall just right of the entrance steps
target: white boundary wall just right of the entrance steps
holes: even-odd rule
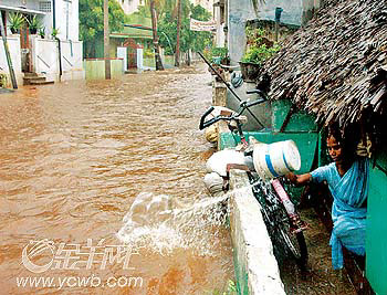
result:
[[[61,41],[62,77],[60,77],[59,42],[31,36],[32,70],[48,80],[84,78],[81,41]]]

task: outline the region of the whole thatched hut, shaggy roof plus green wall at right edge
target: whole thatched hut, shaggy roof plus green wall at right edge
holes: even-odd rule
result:
[[[265,63],[258,87],[273,101],[290,99],[315,115],[321,126],[339,123],[344,134],[373,141],[366,276],[377,294],[387,294],[387,2],[325,1],[315,18],[281,45]]]

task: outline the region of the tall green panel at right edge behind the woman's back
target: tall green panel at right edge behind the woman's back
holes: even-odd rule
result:
[[[387,294],[387,164],[386,152],[370,170],[366,238],[367,278],[376,294]]]

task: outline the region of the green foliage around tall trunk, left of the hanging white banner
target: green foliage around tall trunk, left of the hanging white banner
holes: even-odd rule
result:
[[[188,0],[182,1],[182,18],[180,30],[180,51],[187,52],[203,51],[206,48],[210,48],[212,43],[211,32],[196,32],[189,30],[190,18],[201,21],[208,21],[211,19],[211,13],[200,6],[190,4]],[[166,54],[174,54],[176,52],[177,43],[177,15],[174,15],[172,11],[166,11],[163,19],[158,23],[158,36],[159,43],[166,50]],[[190,18],[189,18],[190,15]],[[164,32],[164,33],[161,33]],[[174,52],[169,46],[169,41],[174,48]]]

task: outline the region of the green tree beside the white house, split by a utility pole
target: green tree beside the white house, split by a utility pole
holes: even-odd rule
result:
[[[84,41],[84,56],[96,57],[96,42],[104,38],[104,0],[80,0],[80,36]],[[111,31],[124,29],[125,13],[116,0],[108,0]]]

